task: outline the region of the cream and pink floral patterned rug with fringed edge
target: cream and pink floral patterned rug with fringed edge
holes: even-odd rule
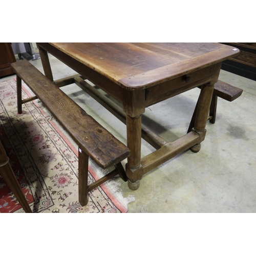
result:
[[[23,84],[23,99],[31,97]],[[17,114],[15,79],[0,82],[0,136],[33,212],[127,212],[134,197],[123,198],[119,184],[105,182],[78,202],[78,146],[39,100],[23,104]],[[90,161],[88,182],[105,170]],[[24,212],[0,176],[0,212]]]

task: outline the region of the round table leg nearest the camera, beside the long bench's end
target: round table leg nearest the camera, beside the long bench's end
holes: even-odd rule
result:
[[[126,116],[127,147],[130,156],[127,159],[126,175],[128,186],[132,190],[139,188],[140,179],[143,174],[138,173],[141,158],[141,115],[137,117]]]

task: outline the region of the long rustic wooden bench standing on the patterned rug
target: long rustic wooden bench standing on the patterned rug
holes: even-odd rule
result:
[[[88,203],[88,192],[117,174],[127,181],[120,163],[130,155],[129,149],[63,93],[27,60],[12,63],[17,74],[17,106],[35,99],[22,100],[22,80],[78,144],[78,190],[82,206]],[[88,186],[88,160],[91,157],[101,168],[115,166],[108,175]]]

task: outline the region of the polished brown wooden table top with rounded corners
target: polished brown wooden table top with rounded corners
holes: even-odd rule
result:
[[[50,43],[58,50],[128,90],[214,65],[239,54],[218,43]]]

